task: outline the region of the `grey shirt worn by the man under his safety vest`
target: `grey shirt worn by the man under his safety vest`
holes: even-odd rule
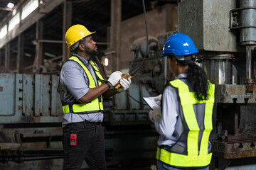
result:
[[[91,60],[87,61],[77,54],[73,54],[75,57],[79,57],[80,60],[85,64],[92,74],[93,79],[97,81],[95,72],[93,72]],[[63,68],[60,72],[60,84],[65,90],[63,100],[66,103],[72,103],[78,101],[82,96],[84,96],[87,91],[89,91],[89,84],[87,84],[87,75],[84,69],[77,62],[65,62]],[[68,125],[68,123],[78,123],[83,121],[89,122],[102,122],[103,113],[92,113],[92,114],[74,114],[66,113],[63,115],[63,127]]]

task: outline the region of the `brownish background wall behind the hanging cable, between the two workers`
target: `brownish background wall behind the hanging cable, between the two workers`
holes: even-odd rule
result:
[[[173,4],[166,4],[161,8],[146,12],[146,23],[148,28],[148,35],[158,38],[169,31],[176,31],[178,26],[178,11],[177,6]],[[110,28],[108,28],[110,29]],[[110,31],[108,31],[110,33]],[[110,34],[107,35],[110,37]],[[146,28],[144,21],[144,14],[129,18],[121,23],[121,57],[120,69],[127,72],[129,69],[129,62],[132,61],[133,55],[129,50],[134,40],[146,37]],[[110,72],[111,67],[105,67],[106,72]]]

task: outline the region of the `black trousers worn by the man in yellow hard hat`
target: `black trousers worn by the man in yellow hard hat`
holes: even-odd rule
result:
[[[71,131],[77,134],[77,145],[70,146]],[[63,170],[80,170],[85,160],[90,169],[105,170],[105,139],[101,123],[73,123],[63,128]]]

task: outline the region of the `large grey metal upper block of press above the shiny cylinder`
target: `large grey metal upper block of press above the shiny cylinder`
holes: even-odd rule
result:
[[[236,2],[223,0],[178,3],[178,32],[190,36],[198,50],[237,52],[236,36],[229,31],[229,11]]]

